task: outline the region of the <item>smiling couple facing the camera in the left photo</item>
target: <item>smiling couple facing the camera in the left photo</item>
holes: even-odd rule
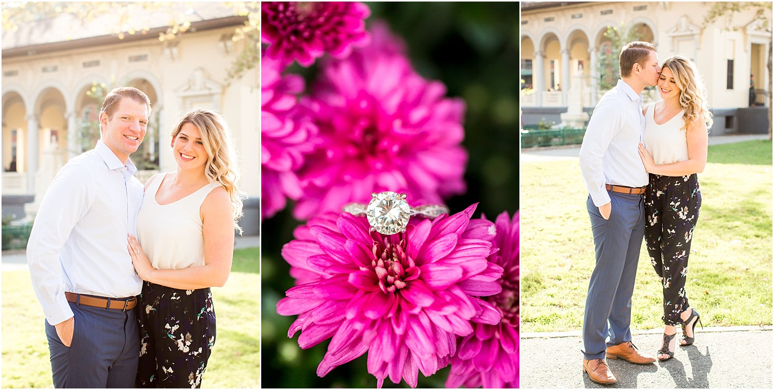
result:
[[[129,155],[150,100],[105,97],[100,140],[53,179],[27,245],[57,388],[200,387],[215,341],[210,287],[231,271],[241,192],[223,118],[191,110],[176,171],[143,189]],[[142,244],[142,246],[141,246]]]

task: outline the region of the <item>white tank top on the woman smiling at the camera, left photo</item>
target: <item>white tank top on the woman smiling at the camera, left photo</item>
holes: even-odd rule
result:
[[[142,197],[137,215],[137,239],[156,270],[181,270],[204,266],[204,236],[199,209],[204,198],[220,183],[210,183],[197,192],[168,205],[156,202],[156,192],[166,177],[156,175]]]

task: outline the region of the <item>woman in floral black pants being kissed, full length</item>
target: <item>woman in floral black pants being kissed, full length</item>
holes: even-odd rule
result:
[[[707,91],[690,59],[673,56],[662,68],[656,87],[663,100],[643,109],[645,144],[639,144],[639,154],[650,174],[645,241],[663,285],[665,326],[658,358],[665,361],[674,356],[676,325],[683,327],[680,345],[690,345],[700,317],[688,304],[685,281],[701,207],[696,174],[707,164],[712,114],[707,108]]]

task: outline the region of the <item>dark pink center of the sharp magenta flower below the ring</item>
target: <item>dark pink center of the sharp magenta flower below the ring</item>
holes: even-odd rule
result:
[[[376,236],[372,233],[372,237]],[[383,293],[394,293],[407,286],[407,282],[420,276],[420,269],[414,264],[403,250],[406,247],[406,239],[400,239],[398,243],[391,242],[388,238],[378,237],[374,239],[372,253],[374,259],[371,266],[379,280],[379,288]]]

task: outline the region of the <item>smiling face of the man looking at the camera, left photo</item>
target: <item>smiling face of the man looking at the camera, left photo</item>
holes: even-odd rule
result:
[[[102,129],[102,142],[124,164],[129,154],[134,153],[142,144],[148,126],[148,106],[131,98],[124,97],[118,102],[118,108],[112,117],[104,111],[99,117]]]

